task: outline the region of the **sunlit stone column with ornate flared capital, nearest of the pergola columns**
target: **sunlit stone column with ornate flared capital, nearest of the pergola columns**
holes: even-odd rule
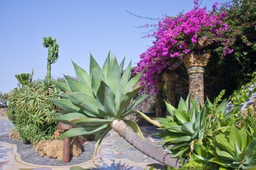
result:
[[[203,93],[203,73],[204,67],[210,58],[210,53],[194,54],[189,53],[185,56],[184,63],[189,73],[189,99],[195,99],[197,96],[199,103],[204,103]]]

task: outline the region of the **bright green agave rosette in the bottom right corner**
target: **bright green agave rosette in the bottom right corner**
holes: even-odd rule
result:
[[[228,137],[218,134],[211,144],[214,151],[208,152],[214,157],[208,162],[217,163],[220,169],[256,169],[256,134],[232,126]]]

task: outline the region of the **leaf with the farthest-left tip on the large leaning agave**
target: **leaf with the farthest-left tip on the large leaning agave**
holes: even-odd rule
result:
[[[79,108],[73,105],[70,99],[51,99],[50,101],[61,108],[65,113],[79,112]]]

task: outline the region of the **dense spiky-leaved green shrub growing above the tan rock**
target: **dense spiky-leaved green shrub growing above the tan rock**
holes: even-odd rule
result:
[[[7,116],[25,142],[38,142],[49,139],[56,129],[52,121],[57,107],[49,101],[58,98],[61,91],[51,81],[38,81],[15,89],[9,98]]]

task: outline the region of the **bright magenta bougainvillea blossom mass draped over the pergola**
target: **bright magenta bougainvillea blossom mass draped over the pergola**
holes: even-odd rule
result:
[[[177,17],[164,17],[158,23],[157,30],[148,35],[156,40],[146,52],[140,55],[137,62],[136,73],[144,70],[141,77],[143,85],[154,85],[154,77],[166,69],[172,67],[174,60],[181,60],[193,50],[199,36],[206,36],[209,44],[224,40],[223,33],[228,31],[228,26],[222,20],[226,13],[216,14],[217,3],[214,3],[212,11],[200,8],[198,1],[194,1],[195,7],[185,14]],[[228,43],[224,44],[224,54],[231,53]]]

